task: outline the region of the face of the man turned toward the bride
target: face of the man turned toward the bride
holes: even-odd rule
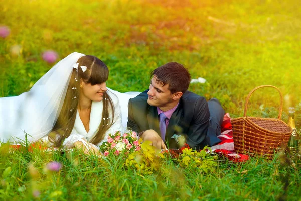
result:
[[[150,106],[166,107],[173,101],[172,93],[169,90],[169,84],[162,86],[155,82],[154,77],[150,82],[147,95],[147,103]]]

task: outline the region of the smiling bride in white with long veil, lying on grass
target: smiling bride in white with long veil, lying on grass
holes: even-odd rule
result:
[[[110,90],[108,75],[97,57],[74,52],[29,92],[0,98],[0,143],[42,140],[98,153],[96,145],[126,126],[128,99],[139,94]]]

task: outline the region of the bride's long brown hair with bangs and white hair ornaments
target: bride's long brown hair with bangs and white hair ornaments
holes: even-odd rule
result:
[[[54,143],[56,147],[62,145],[64,140],[70,136],[74,127],[79,103],[80,79],[86,84],[90,83],[91,85],[95,85],[107,81],[109,76],[108,67],[95,56],[82,56],[77,63],[78,68],[77,70],[74,68],[72,71],[60,115],[48,137],[49,141]],[[83,72],[80,66],[86,66],[87,70]],[[90,140],[90,142],[95,145],[104,138],[105,132],[114,123],[114,104],[107,92],[104,93],[102,102],[103,110],[99,130]]]

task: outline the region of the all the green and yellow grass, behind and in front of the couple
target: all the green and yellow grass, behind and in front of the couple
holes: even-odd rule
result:
[[[301,128],[299,1],[16,0],[1,1],[0,11],[0,24],[11,28],[10,36],[0,39],[0,97],[28,91],[53,66],[41,59],[48,49],[59,59],[74,51],[99,57],[110,69],[108,87],[121,92],[145,90],[154,68],[177,61],[192,78],[207,80],[190,90],[217,97],[232,117],[242,116],[254,87],[277,86],[284,97],[282,119],[287,122],[288,107],[295,107]],[[21,46],[19,56],[10,53],[13,45]],[[258,90],[248,115],[276,117],[278,107],[276,91]],[[36,181],[41,200],[298,200],[300,158],[293,159],[297,170],[278,159],[219,162],[208,174],[166,159],[159,172],[143,176],[115,158],[81,157],[75,167],[59,153],[2,151],[0,175],[8,167],[12,172],[1,180],[0,199],[32,199],[29,163],[42,172],[45,163],[58,160],[61,172]],[[62,195],[50,197],[55,191]]]

